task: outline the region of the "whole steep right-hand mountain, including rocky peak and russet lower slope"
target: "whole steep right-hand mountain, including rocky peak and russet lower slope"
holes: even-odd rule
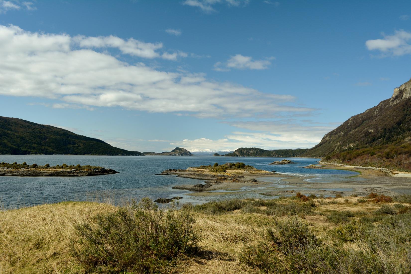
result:
[[[411,79],[390,99],[330,131],[304,156],[411,170]]]

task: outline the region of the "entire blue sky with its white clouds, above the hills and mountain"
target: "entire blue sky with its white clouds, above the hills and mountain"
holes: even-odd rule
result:
[[[0,0],[0,115],[138,151],[312,147],[411,77],[410,1]]]

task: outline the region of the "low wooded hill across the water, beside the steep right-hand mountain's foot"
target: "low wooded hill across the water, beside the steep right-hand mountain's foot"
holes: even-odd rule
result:
[[[307,152],[308,148],[297,148],[287,150],[263,150],[257,147],[240,147],[233,153],[224,154],[229,157],[300,157]],[[218,155],[215,155],[218,156]]]

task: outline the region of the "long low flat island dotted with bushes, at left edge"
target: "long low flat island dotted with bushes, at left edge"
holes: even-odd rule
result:
[[[38,166],[33,163],[0,163],[0,176],[95,176],[118,173],[113,169],[106,169],[99,166],[67,165]]]

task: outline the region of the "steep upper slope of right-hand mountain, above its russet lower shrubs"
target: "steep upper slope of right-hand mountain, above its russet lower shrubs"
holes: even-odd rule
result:
[[[346,120],[304,156],[324,157],[347,150],[402,145],[411,139],[411,79],[390,99]]]

